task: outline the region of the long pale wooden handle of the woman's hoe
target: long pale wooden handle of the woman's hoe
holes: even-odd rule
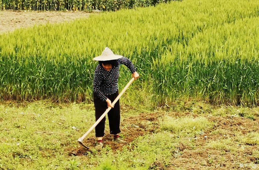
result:
[[[130,84],[134,81],[134,77],[130,80],[130,82],[124,87],[124,89],[120,92],[120,94],[116,97],[116,99],[111,103],[112,106],[115,105],[115,103],[120,99],[120,96],[123,95],[123,93],[129,88]],[[95,122],[95,124],[92,125],[92,127],[82,136],[80,137],[77,141],[79,143],[83,143],[83,140],[85,137],[97,126],[97,124],[105,117],[105,115],[111,110],[111,107],[109,106],[108,109],[101,115],[101,117]]]

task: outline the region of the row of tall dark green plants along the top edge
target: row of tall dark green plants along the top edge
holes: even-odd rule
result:
[[[41,11],[117,11],[136,7],[148,7],[171,0],[0,0],[0,10]]]

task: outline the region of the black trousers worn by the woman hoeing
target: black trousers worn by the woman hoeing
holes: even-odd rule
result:
[[[119,91],[117,91],[114,94],[108,95],[107,97],[108,99],[111,100],[111,102],[113,102],[118,95],[119,95]],[[101,101],[101,99],[98,98],[96,93],[93,94],[93,98],[94,98],[94,105],[95,105],[95,121],[97,121],[98,118],[100,118],[101,115],[107,109],[107,102]],[[114,105],[114,108],[112,108],[108,112],[108,119],[109,119],[110,134],[120,133],[120,100],[118,100]],[[106,117],[104,117],[100,121],[100,123],[98,123],[98,125],[95,127],[96,137],[104,136],[105,120],[106,120]]]

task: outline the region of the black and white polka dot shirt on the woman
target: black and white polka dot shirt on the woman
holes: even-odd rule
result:
[[[107,99],[107,95],[114,94],[118,90],[120,64],[126,65],[131,73],[136,71],[130,59],[122,57],[117,61],[118,65],[112,67],[110,71],[105,70],[100,64],[95,68],[93,90],[102,101]]]

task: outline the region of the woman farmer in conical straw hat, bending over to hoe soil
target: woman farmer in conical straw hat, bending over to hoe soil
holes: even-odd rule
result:
[[[101,117],[105,110],[111,106],[111,110],[108,112],[110,134],[114,135],[112,141],[117,143],[126,143],[119,136],[120,133],[120,101],[118,100],[114,107],[111,103],[118,96],[118,77],[120,64],[126,65],[131,73],[132,77],[139,78],[139,74],[136,72],[136,68],[132,62],[121,55],[114,55],[114,53],[106,47],[102,54],[95,57],[94,60],[99,61],[99,64],[95,68],[94,81],[93,81],[93,98],[95,105],[95,121]],[[96,149],[101,150],[103,147],[103,137],[105,129],[105,117],[95,127],[95,136],[97,137]]]

